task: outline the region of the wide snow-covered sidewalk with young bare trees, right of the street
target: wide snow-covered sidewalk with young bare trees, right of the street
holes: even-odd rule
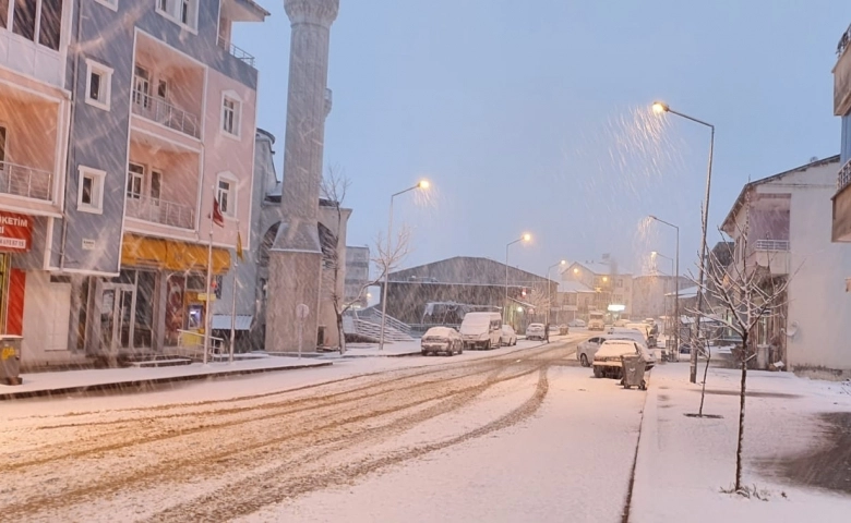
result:
[[[703,376],[703,365],[699,370]],[[700,394],[699,386],[688,384],[688,364],[654,368],[631,522],[848,521],[851,496],[806,486],[807,479],[789,473],[796,459],[810,463],[814,448],[830,448],[820,414],[851,413],[851,390],[838,382],[748,373],[743,483],[765,491],[768,500],[721,492],[735,479],[739,379],[739,370],[710,368],[704,414],[722,417],[692,418],[685,414],[697,412]],[[851,473],[846,474],[851,481]]]

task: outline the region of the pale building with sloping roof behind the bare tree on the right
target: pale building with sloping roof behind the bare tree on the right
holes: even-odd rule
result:
[[[835,193],[840,157],[814,160],[747,183],[722,230],[733,240],[728,277],[745,273],[771,289],[789,281],[786,306],[762,318],[752,333],[756,346],[771,345],[766,363],[795,372],[841,375],[851,370],[851,248],[831,243],[826,202]]]

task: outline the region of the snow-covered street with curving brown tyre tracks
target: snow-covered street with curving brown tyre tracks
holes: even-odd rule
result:
[[[248,378],[236,380],[232,399],[221,380],[203,386],[217,389],[205,400],[178,388],[149,404],[145,394],[34,401],[55,406],[17,409],[0,428],[0,469],[13,478],[0,489],[0,513],[621,521],[645,393],[591,378],[574,354],[570,338],[440,362],[397,358],[406,366],[349,369],[288,391],[248,393],[257,379]]]

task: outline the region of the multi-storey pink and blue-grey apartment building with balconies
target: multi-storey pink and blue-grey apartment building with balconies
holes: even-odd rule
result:
[[[7,198],[25,207],[0,199],[0,210],[34,217],[33,248],[11,260],[35,271],[24,363],[176,344],[204,325],[209,243],[217,275],[238,226],[250,247],[257,71],[230,35],[268,13],[251,0],[16,0],[8,13],[0,34],[17,47],[0,46],[0,85],[23,94],[0,97],[0,121],[11,122],[0,150],[28,169],[15,167],[29,193]],[[27,123],[29,145],[15,122]],[[211,228],[214,197],[220,228]],[[19,280],[12,271],[13,295]],[[56,318],[47,329],[45,306]],[[28,332],[31,317],[40,325]]]

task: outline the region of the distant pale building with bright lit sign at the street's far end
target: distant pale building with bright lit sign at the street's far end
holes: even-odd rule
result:
[[[623,318],[632,314],[632,275],[619,272],[618,264],[608,256],[604,262],[574,262],[561,270],[562,281],[578,281],[595,291],[594,309],[612,311]],[[583,319],[588,319],[587,316]]]

